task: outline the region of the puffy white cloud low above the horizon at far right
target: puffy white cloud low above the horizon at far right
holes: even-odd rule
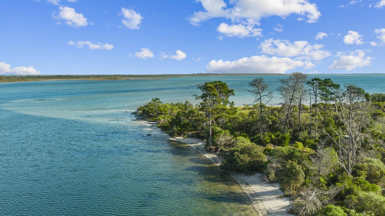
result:
[[[338,53],[340,57],[337,60],[334,60],[333,64],[329,66],[329,70],[353,70],[354,68],[360,68],[363,66],[372,65],[372,60],[374,58],[370,56],[365,56],[365,52],[363,50],[356,50],[354,52],[350,52],[346,55],[343,52]]]

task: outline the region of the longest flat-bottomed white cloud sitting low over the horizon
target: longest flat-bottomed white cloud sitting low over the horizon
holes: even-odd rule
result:
[[[212,60],[206,65],[206,71],[209,73],[285,73],[297,67],[310,69],[314,66],[308,61],[262,55],[236,61]]]

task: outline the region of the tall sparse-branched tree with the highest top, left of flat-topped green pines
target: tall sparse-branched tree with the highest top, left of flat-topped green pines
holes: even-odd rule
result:
[[[278,88],[285,108],[285,121],[283,132],[288,130],[288,119],[293,110],[293,105],[298,101],[299,92],[303,91],[303,85],[308,75],[301,72],[293,72],[286,79],[279,79],[281,87]]]

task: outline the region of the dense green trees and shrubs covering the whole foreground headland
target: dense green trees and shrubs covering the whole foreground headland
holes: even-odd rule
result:
[[[223,157],[221,168],[264,173],[293,199],[291,213],[327,216],[385,215],[385,103],[355,85],[295,72],[280,79],[280,107],[263,78],[250,80],[253,105],[229,101],[226,83],[198,85],[201,101],[162,103],[137,109],[173,136],[206,140]]]

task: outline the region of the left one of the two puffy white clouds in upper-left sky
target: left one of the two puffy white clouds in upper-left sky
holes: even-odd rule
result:
[[[70,7],[60,6],[59,13],[57,15],[56,12],[52,13],[52,18],[57,20],[64,20],[67,25],[75,28],[88,25],[87,18],[85,18],[83,14],[77,13],[74,8]]]

